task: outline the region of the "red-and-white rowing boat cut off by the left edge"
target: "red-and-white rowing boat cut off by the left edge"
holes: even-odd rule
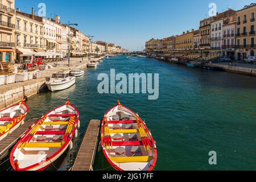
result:
[[[19,104],[0,111],[0,141],[23,125],[28,113],[28,106],[23,99]]]

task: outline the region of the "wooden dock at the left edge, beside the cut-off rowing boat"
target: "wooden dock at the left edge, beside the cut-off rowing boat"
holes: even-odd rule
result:
[[[8,150],[22,137],[23,134],[36,122],[38,119],[30,119],[18,129],[13,131],[8,137],[0,142],[0,159],[6,156]]]

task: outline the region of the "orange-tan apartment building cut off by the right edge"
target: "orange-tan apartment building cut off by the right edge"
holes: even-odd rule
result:
[[[242,60],[247,56],[256,55],[255,44],[255,12],[256,3],[243,7],[242,10],[237,11],[236,18],[236,59]]]

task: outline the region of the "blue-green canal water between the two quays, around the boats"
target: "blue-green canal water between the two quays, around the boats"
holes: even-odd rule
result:
[[[158,100],[148,100],[148,94],[99,94],[97,76],[110,75],[112,68],[125,74],[159,73]],[[30,97],[28,118],[39,118],[67,100],[80,111],[81,129],[73,150],[55,164],[60,170],[73,164],[89,119],[102,119],[117,100],[138,111],[151,129],[158,147],[155,170],[256,170],[255,77],[119,56],[86,69],[67,90]],[[209,165],[210,151],[216,151],[217,165]],[[113,170],[100,148],[94,170]]]

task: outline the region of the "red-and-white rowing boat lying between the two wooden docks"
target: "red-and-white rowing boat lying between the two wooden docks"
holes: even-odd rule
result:
[[[77,137],[79,111],[69,101],[44,115],[14,146],[10,155],[15,171],[43,171],[58,159]]]

